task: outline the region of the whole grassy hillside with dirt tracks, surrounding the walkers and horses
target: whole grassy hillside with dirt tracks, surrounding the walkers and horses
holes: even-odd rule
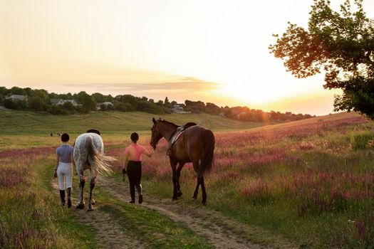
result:
[[[172,248],[180,248],[180,243],[188,248],[256,248],[253,243],[271,248],[374,245],[374,124],[355,113],[254,128],[245,127],[246,122],[209,115],[164,117],[179,124],[187,120],[204,122],[215,131],[215,163],[205,178],[208,205],[204,207],[199,204],[200,195],[197,201],[190,198],[196,186],[191,164],[185,165],[180,176],[183,195],[178,201],[170,200],[172,176],[165,141],[158,144],[155,157],[144,159],[142,185],[146,201],[142,206],[127,203],[128,181],[123,182],[121,155],[129,144],[132,127],[140,131],[141,144],[149,146],[152,115],[98,112],[70,119],[27,112],[0,113],[4,128],[0,133],[0,162],[4,167],[0,181],[6,186],[3,192],[0,188],[4,200],[0,216],[6,228],[2,238],[18,238],[26,228],[32,233],[26,233],[31,238],[24,238],[24,245],[28,239],[34,243],[39,238],[43,243],[43,234],[33,230],[41,226],[57,231],[54,243],[67,236],[73,248],[106,248],[110,243],[131,244],[129,248],[137,247],[132,243],[165,248],[165,241],[167,245],[173,243]],[[115,174],[100,177],[95,187],[95,212],[40,206],[39,203],[57,201],[53,189],[57,188],[56,180],[53,188],[50,184],[53,147],[60,144],[60,138],[50,137],[49,127],[65,125],[74,132],[86,124],[104,132],[105,151],[118,159],[113,164]],[[72,132],[73,140],[78,133]],[[73,189],[78,189],[78,179],[74,183]],[[9,188],[18,184],[20,187]],[[41,218],[27,219],[33,217],[28,213],[25,216],[25,210],[37,213],[43,208],[47,210],[38,214]],[[75,215],[83,218],[76,219]],[[105,237],[103,233],[94,232],[103,231],[103,226],[110,227],[111,233],[125,233],[105,242],[101,239]],[[212,227],[217,230],[211,231]],[[169,232],[176,228],[177,233]],[[64,229],[81,234],[71,237]],[[130,234],[131,238],[121,234]],[[155,234],[157,238],[152,238]]]

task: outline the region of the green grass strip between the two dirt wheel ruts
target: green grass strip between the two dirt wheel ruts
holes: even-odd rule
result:
[[[206,238],[195,235],[181,223],[175,223],[156,211],[123,203],[105,191],[96,196],[104,203],[100,211],[108,213],[123,231],[147,248],[213,248]]]

